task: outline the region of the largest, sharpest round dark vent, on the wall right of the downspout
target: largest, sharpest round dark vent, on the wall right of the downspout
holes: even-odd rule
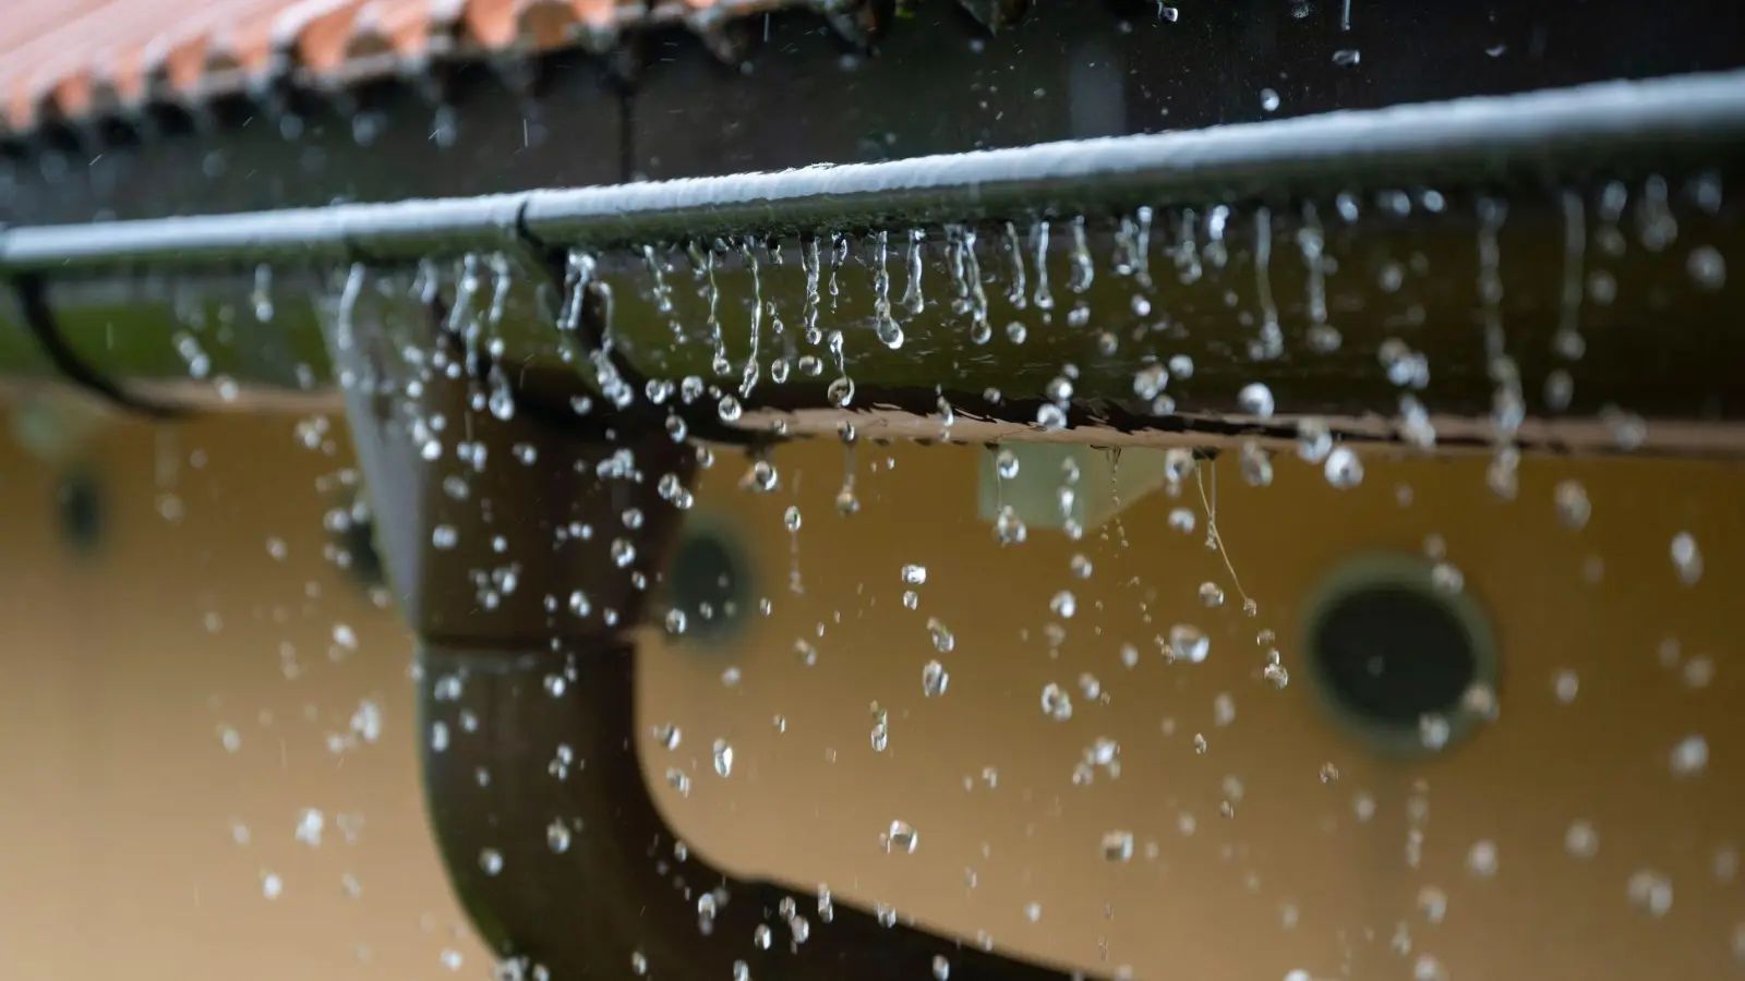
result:
[[[1410,559],[1361,562],[1333,578],[1305,632],[1309,667],[1333,710],[1366,738],[1422,751],[1420,726],[1440,716],[1450,737],[1469,728],[1468,693],[1495,686],[1495,651],[1478,604],[1438,590]]]

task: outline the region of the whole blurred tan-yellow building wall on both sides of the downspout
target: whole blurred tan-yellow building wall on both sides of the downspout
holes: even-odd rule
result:
[[[257,415],[0,447],[0,976],[483,976],[422,822],[412,641],[325,555],[325,515],[349,501],[337,429]],[[770,494],[740,490],[733,454],[705,471],[696,527],[743,548],[771,602],[726,641],[646,632],[642,731],[684,738],[644,735],[644,765],[693,854],[1139,978],[1401,978],[1424,957],[1499,979],[1745,967],[1745,470],[1530,459],[1506,501],[1476,457],[1373,459],[1335,490],[1290,457],[1246,487],[1227,456],[1220,553],[1192,485],[1127,501],[1077,545],[1037,527],[1000,548],[977,515],[981,452],[792,445]],[[845,466],[860,496],[846,518]],[[105,501],[89,553],[61,520],[79,468]],[[1581,531],[1557,517],[1569,478],[1593,506]],[[1169,527],[1178,506],[1199,513],[1194,534]],[[1680,529],[1703,552],[1694,585],[1668,559]],[[1331,569],[1422,555],[1431,536],[1495,630],[1501,710],[1443,754],[1389,758],[1316,698],[1302,620]],[[1075,553],[1091,578],[1071,574]],[[906,564],[927,583],[902,583]],[[1223,606],[1204,606],[1204,581]],[[1050,609],[1059,590],[1071,618]],[[1153,639],[1174,623],[1211,637],[1206,663],[1164,662]],[[1276,639],[1256,644],[1262,630]],[[1263,677],[1269,646],[1284,688]],[[951,683],[928,698],[935,658]],[[1070,721],[1042,714],[1049,681],[1073,695]],[[1672,754],[1693,735],[1707,766],[1680,775]],[[1075,784],[1099,737],[1119,742],[1119,775]],[[297,836],[305,808],[325,817],[319,845]],[[892,820],[920,833],[914,854],[879,848]],[[1577,824],[1591,857],[1569,847]],[[1101,850],[1117,829],[1134,834],[1126,862]],[[1487,841],[1495,871],[1478,875]],[[1659,883],[1675,899],[1656,915]]]

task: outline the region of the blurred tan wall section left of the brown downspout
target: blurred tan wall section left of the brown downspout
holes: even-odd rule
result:
[[[410,637],[323,559],[333,449],[270,415],[101,429],[77,557],[65,466],[0,442],[0,978],[487,976],[424,826]]]

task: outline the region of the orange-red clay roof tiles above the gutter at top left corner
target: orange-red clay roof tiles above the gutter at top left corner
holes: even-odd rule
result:
[[[537,52],[646,23],[801,0],[10,0],[0,17],[0,136],[42,120],[197,99],[290,72],[386,75],[466,52]]]

